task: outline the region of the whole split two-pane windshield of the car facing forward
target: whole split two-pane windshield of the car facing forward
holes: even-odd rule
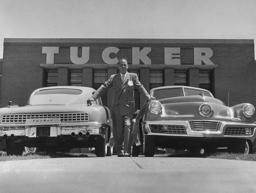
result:
[[[184,89],[184,92],[183,92]],[[190,88],[167,88],[167,89],[157,89],[154,91],[153,96],[157,99],[166,99],[166,98],[172,98],[172,97],[184,97],[184,96],[192,96],[192,95],[199,95],[201,93],[204,93],[207,97],[212,97],[211,93],[209,91],[202,91],[200,89],[190,89]]]

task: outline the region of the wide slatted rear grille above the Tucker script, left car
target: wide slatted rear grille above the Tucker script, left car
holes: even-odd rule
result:
[[[54,114],[4,114],[1,123],[25,123],[27,119],[60,118],[61,122],[89,122],[87,112],[67,112]]]

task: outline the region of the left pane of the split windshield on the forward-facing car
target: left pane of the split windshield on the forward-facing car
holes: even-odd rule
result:
[[[153,96],[157,99],[166,99],[171,97],[183,97],[184,93],[182,88],[170,88],[170,89],[157,89],[154,91]]]

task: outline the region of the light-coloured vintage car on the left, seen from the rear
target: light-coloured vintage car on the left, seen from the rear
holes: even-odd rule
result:
[[[31,93],[23,107],[9,102],[0,109],[0,138],[7,155],[34,152],[66,152],[95,148],[98,157],[111,156],[112,120],[101,99],[88,100],[95,92],[83,86],[43,87]]]

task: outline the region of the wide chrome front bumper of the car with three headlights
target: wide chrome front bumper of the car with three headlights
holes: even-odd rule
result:
[[[217,120],[163,120],[142,123],[144,133],[158,136],[198,138],[250,138],[254,137],[256,124]]]

